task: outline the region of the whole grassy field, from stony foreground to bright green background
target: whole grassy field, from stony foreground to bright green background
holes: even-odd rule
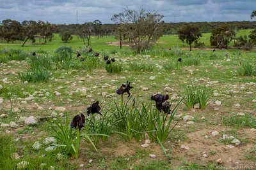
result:
[[[203,36],[205,45],[209,36]],[[80,51],[76,37],[62,43],[55,35],[47,45],[24,48],[0,45],[0,169],[256,168],[255,50],[154,48],[138,54],[128,46],[120,50],[106,43],[113,41],[92,38],[99,57]],[[168,42],[159,44],[164,48],[182,46],[177,36],[159,41]],[[55,52],[63,45],[72,46],[73,52]],[[103,60],[106,55],[115,59],[110,66]],[[116,90],[127,80],[131,97],[124,94],[121,103]],[[170,96],[171,115],[156,110],[150,100],[156,93]],[[73,128],[71,134],[63,127],[61,140],[45,141],[58,136],[58,125],[65,126],[66,120],[69,129],[72,118],[86,115],[95,101],[103,117],[90,114],[81,132]],[[22,117],[30,116],[38,122],[26,125]],[[78,148],[77,158],[65,140]],[[29,163],[22,167],[22,161]]]

